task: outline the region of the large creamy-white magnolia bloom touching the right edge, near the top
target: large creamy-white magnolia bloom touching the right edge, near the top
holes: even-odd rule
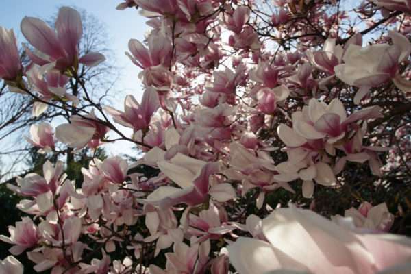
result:
[[[343,56],[344,64],[335,66],[336,76],[346,84],[360,88],[354,103],[360,103],[369,89],[393,79],[397,88],[410,92],[411,82],[399,75],[399,64],[411,53],[411,44],[405,36],[388,32],[393,45],[377,44],[361,47],[350,44]]]

